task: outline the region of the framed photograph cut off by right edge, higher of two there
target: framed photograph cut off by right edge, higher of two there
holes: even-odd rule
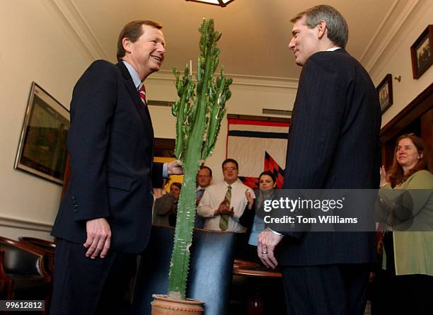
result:
[[[413,79],[418,79],[433,64],[433,25],[428,25],[419,38],[410,46]]]

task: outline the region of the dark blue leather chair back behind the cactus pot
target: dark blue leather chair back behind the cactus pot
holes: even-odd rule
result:
[[[134,295],[134,314],[151,314],[152,294],[166,294],[174,229],[152,227],[142,253]],[[187,297],[204,301],[204,314],[227,314],[233,273],[234,234],[195,229]]]

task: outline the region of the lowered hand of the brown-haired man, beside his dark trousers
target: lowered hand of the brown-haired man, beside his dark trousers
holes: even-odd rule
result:
[[[84,247],[88,248],[86,257],[104,258],[110,249],[111,229],[105,218],[88,220],[86,222],[87,239]]]

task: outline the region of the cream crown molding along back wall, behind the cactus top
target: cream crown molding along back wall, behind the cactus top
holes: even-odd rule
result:
[[[192,75],[195,76],[195,72]],[[258,86],[268,88],[298,88],[298,79],[281,78],[277,76],[246,76],[242,74],[224,74],[226,77],[233,79],[233,86]],[[161,70],[149,76],[147,80],[154,81],[174,81],[173,72]]]

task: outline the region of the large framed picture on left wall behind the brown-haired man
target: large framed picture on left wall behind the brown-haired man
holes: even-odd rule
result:
[[[63,183],[69,110],[32,83],[15,168]]]

